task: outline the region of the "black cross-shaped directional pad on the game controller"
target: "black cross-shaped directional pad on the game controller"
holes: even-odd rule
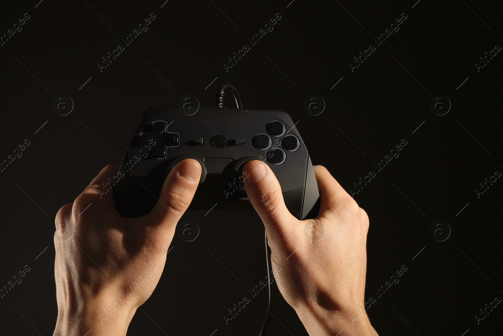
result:
[[[180,145],[180,133],[168,131],[167,126],[167,121],[156,120],[152,122],[151,132],[140,133],[141,145],[150,145],[151,140],[155,141],[152,146],[152,157],[155,159],[165,159],[168,147]]]

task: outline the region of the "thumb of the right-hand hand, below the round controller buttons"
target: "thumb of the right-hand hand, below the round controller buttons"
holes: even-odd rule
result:
[[[270,240],[288,237],[297,219],[286,208],[281,186],[271,168],[254,160],[243,167],[246,194],[266,226]]]

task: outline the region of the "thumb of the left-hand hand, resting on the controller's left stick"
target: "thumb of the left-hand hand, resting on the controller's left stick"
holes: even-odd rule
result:
[[[201,165],[194,159],[180,161],[173,167],[164,181],[155,207],[140,218],[143,226],[152,228],[153,237],[159,238],[167,233],[171,242],[178,221],[194,197],[200,177]]]

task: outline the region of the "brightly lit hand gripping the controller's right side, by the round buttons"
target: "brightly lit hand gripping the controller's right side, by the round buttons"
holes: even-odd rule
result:
[[[266,164],[243,167],[246,193],[266,227],[274,278],[309,335],[377,335],[364,307],[369,218],[326,168],[314,166],[314,173],[319,215],[300,221]]]

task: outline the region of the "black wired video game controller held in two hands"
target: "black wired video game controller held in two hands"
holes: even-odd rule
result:
[[[276,175],[293,216],[303,220],[317,215],[319,193],[313,167],[288,113],[211,108],[186,115],[165,107],[145,111],[124,154],[114,186],[119,213],[148,214],[167,174],[187,158],[202,167],[189,210],[208,211],[215,205],[218,210],[249,209],[242,168],[250,160],[261,160]]]

